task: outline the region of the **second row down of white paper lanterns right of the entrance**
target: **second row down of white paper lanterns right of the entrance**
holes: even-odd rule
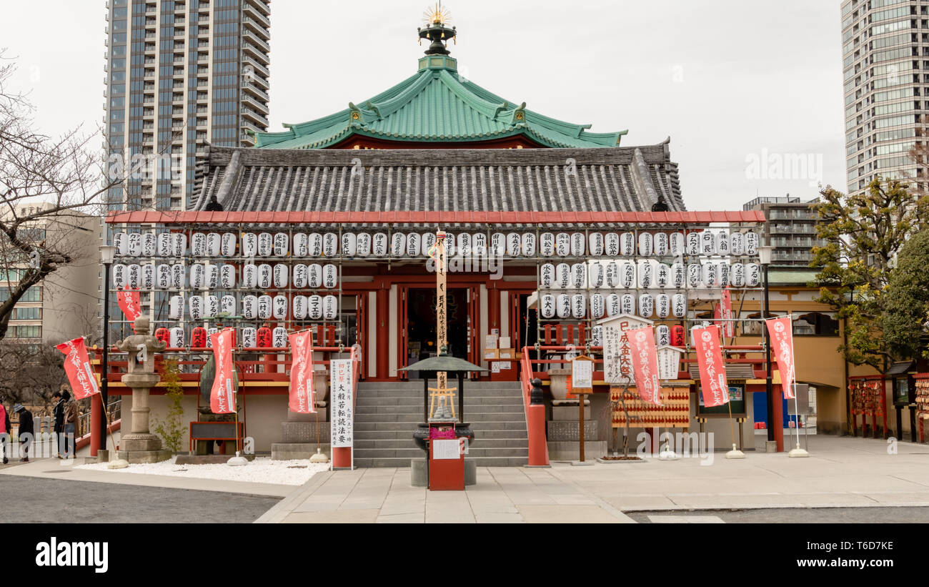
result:
[[[757,263],[674,263],[669,266],[641,259],[637,263],[546,263],[539,268],[539,287],[543,290],[757,287],[760,282],[761,267]]]

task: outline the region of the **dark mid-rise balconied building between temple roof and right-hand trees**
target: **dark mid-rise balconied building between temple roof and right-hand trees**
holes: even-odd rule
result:
[[[811,249],[825,246],[816,233],[817,213],[812,205],[815,199],[801,202],[791,195],[755,198],[742,206],[742,210],[761,210],[767,222],[762,225],[764,242],[774,247],[771,264],[808,267],[813,260]]]

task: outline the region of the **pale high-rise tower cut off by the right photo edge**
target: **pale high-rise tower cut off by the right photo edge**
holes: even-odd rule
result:
[[[929,2],[844,0],[842,56],[848,192],[878,175],[926,182],[909,150],[929,122]]]

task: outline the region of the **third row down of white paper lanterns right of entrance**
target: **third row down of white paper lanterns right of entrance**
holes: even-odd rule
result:
[[[591,294],[588,308],[585,294],[542,294],[539,297],[539,313],[544,320],[587,318],[587,312],[594,320],[605,317],[641,316],[651,318],[653,315],[660,319],[674,316],[685,318],[687,316],[687,296],[685,294]]]

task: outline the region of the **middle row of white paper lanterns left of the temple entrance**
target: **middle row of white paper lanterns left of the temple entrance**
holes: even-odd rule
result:
[[[297,264],[293,270],[294,288],[335,289],[338,287],[338,267],[332,263],[319,265]],[[291,277],[290,267],[279,263],[242,266],[241,286],[244,289],[286,288]],[[112,284],[117,290],[123,288],[182,289],[186,287],[187,270],[182,264],[174,265],[122,265],[112,267]],[[190,266],[190,287],[193,289],[230,290],[236,286],[236,267],[233,265]]]

